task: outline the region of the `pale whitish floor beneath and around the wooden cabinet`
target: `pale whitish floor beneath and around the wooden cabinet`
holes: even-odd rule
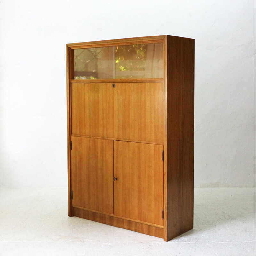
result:
[[[68,217],[66,188],[0,188],[0,255],[255,255],[255,189],[196,188],[194,229],[163,239]]]

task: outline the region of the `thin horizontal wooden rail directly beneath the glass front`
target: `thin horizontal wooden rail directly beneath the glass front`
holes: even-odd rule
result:
[[[164,82],[163,78],[138,79],[71,79],[71,83],[151,83]]]

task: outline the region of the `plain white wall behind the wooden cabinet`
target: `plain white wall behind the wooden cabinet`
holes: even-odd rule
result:
[[[0,185],[67,186],[65,44],[195,38],[195,186],[255,185],[255,4],[0,2]]]

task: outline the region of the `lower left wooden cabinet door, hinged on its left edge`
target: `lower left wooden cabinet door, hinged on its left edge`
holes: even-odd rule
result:
[[[71,141],[72,205],[113,214],[113,140]]]

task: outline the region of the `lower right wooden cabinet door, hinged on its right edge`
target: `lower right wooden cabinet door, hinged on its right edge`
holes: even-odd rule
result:
[[[114,214],[164,225],[163,145],[114,141]]]

